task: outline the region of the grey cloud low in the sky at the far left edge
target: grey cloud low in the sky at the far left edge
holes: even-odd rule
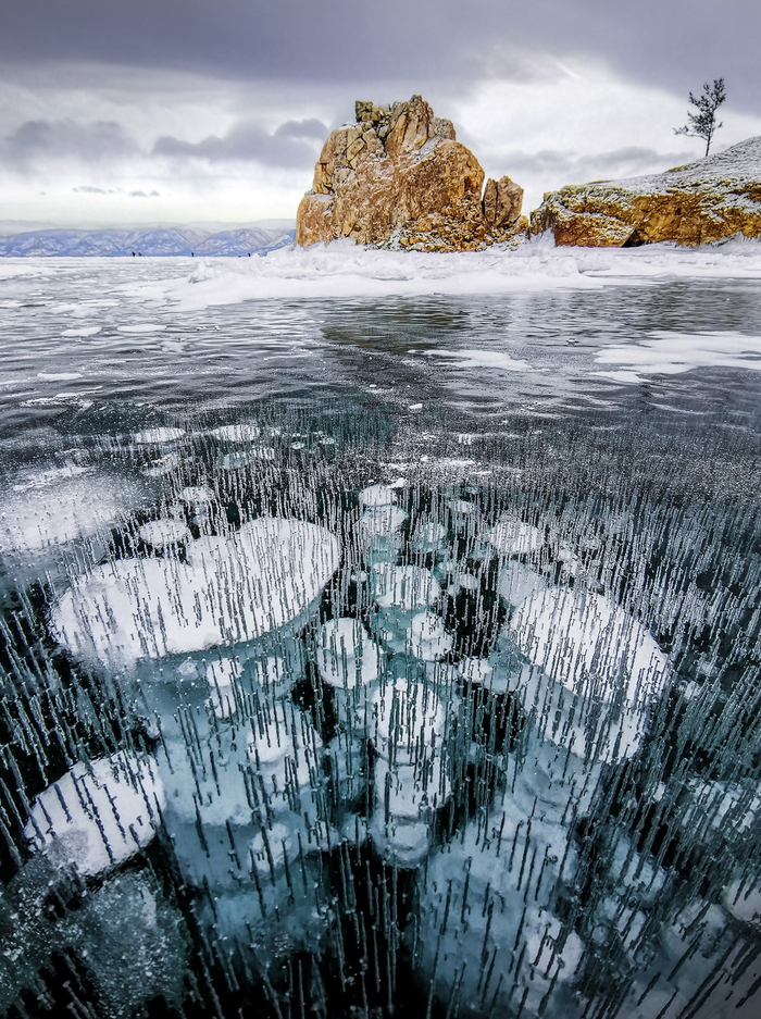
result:
[[[92,162],[124,159],[138,151],[135,139],[115,121],[25,121],[0,140],[0,164],[25,170],[51,159]]]

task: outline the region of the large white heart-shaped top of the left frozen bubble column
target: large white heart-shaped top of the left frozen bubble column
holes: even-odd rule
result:
[[[338,555],[324,527],[262,517],[229,537],[190,542],[185,563],[96,567],[54,605],[52,629],[74,655],[111,664],[251,641],[297,619]]]

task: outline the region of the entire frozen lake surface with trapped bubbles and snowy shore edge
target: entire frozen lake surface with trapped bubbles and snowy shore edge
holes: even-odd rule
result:
[[[0,265],[0,1014],[761,1005],[761,254]]]

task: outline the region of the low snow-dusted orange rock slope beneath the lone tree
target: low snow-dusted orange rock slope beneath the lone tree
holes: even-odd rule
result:
[[[761,237],[761,137],[666,173],[550,191],[531,229],[584,247]]]

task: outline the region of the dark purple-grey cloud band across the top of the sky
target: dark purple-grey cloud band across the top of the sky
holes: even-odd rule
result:
[[[3,11],[0,58],[108,62],[239,80],[526,79],[534,51],[604,60],[679,94],[723,75],[758,109],[761,4],[753,0],[33,0]],[[371,97],[372,98],[372,97]],[[386,98],[399,98],[396,96]]]

